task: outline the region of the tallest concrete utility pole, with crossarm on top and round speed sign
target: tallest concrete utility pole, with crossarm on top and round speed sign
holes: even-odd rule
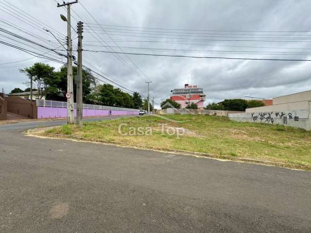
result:
[[[78,0],[64,4],[57,3],[57,7],[67,6],[67,18],[61,15],[64,21],[67,21],[67,124],[74,124],[74,102],[73,102],[73,77],[72,77],[72,41],[70,25],[70,5],[77,3]]]

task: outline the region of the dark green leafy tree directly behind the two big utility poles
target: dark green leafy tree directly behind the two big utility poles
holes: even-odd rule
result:
[[[72,67],[72,75],[73,75],[73,97],[74,101],[76,101],[76,93],[77,93],[77,85],[76,85],[76,76],[77,76],[77,67]],[[57,86],[61,90],[63,94],[67,92],[67,67],[62,66],[60,71],[54,72],[54,76],[58,80]],[[91,94],[92,89],[96,86],[95,77],[87,70],[82,70],[82,96],[83,101],[86,103],[92,103],[90,97],[87,95]]]

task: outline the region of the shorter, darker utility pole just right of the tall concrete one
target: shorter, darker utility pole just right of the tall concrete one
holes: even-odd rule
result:
[[[83,22],[78,22],[78,67],[77,67],[77,125],[83,126],[83,90],[82,90],[82,33]]]

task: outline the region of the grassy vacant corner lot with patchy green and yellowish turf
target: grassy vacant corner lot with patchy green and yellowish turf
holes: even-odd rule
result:
[[[165,117],[182,122],[144,116],[84,123],[82,129],[64,125],[41,134],[145,149],[202,152],[224,159],[272,161],[284,163],[280,166],[311,170],[311,132],[279,125],[235,122],[218,116]],[[122,133],[135,133],[130,127],[152,127],[153,132],[151,135],[121,135],[118,133],[121,123],[126,124],[121,127]],[[185,133],[177,138],[176,134],[166,132],[166,126],[163,126],[165,133],[161,133],[159,123],[174,129],[182,127]]]

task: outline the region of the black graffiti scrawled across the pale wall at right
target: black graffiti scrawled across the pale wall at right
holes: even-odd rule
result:
[[[299,116],[294,116],[292,113],[284,113],[284,112],[276,112],[273,114],[273,112],[268,113],[252,113],[251,119],[254,122],[260,122],[260,123],[274,123],[274,118],[279,118],[283,120],[283,124],[287,125],[289,120],[299,121]]]

